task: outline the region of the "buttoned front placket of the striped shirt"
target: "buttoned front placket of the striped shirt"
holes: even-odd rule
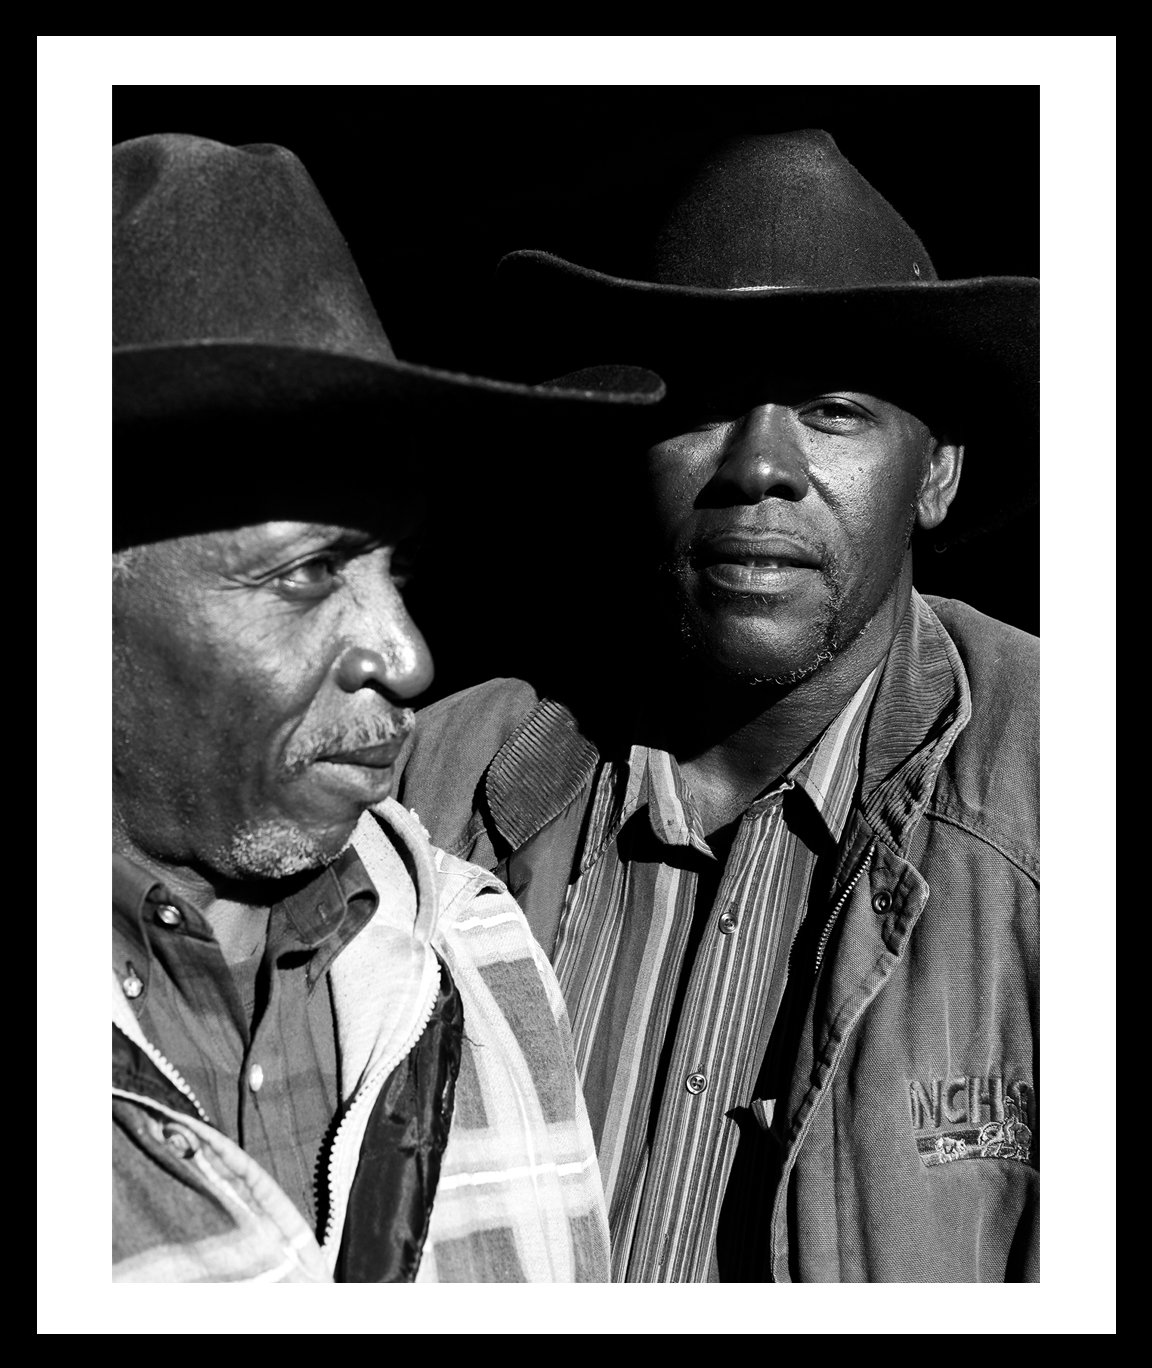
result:
[[[780,795],[740,824],[690,973],[669,1056],[632,1241],[628,1280],[707,1279],[739,1142],[726,1115],[747,1107],[769,999],[772,907],[758,897],[765,843],[780,837]],[[770,850],[769,850],[770,860]]]

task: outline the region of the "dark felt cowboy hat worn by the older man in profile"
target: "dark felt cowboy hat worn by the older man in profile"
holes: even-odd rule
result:
[[[421,425],[427,451],[480,423],[502,435],[612,424],[662,394],[633,367],[528,386],[398,361],[291,152],[185,134],[112,148],[119,546],[289,516],[300,491],[348,477],[328,458],[339,443],[410,462],[404,434]],[[358,466],[361,498],[374,468]]]

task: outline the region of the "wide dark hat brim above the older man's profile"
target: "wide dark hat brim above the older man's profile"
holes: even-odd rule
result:
[[[525,386],[256,342],[114,349],[114,549],[278,520],[360,525],[413,490],[467,498],[545,446],[627,440],[662,395],[629,367]]]

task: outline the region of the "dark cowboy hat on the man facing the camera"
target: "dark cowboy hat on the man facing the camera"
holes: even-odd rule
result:
[[[740,138],[716,152],[654,234],[646,279],[513,252],[508,317],[540,367],[617,356],[657,369],[673,421],[717,386],[822,383],[900,404],[967,445],[934,536],[963,540],[1038,492],[1040,282],[940,280],[908,224],[822,130]],[[762,398],[761,398],[762,401]]]

